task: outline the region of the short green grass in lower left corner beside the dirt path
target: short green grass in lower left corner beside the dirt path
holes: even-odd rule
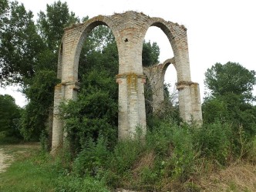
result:
[[[5,145],[0,148],[9,157],[8,162],[5,160],[4,163],[11,163],[0,173],[0,191],[55,191],[58,173],[52,170],[46,157],[43,161],[38,144]]]

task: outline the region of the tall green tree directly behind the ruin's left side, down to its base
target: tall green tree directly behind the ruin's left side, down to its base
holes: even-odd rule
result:
[[[47,122],[52,116],[54,86],[59,83],[56,78],[59,45],[64,28],[79,19],[69,12],[66,2],[58,1],[47,5],[46,12],[39,13],[37,22],[44,49],[38,52],[34,76],[23,79],[23,92],[29,99],[22,113],[21,130],[26,140],[39,140],[43,130],[48,130],[49,134],[52,131]]]

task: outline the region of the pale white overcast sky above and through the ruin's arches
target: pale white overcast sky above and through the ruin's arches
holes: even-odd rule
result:
[[[19,0],[31,10],[36,19],[40,10],[54,0]],[[187,28],[191,79],[200,84],[204,96],[204,72],[216,62],[239,62],[250,70],[256,70],[256,6],[254,0],[66,0],[69,10],[79,18],[88,15],[113,15],[133,10],[150,17],[160,17],[177,22]],[[173,57],[166,35],[157,27],[151,27],[146,39],[160,45],[160,62]],[[168,67],[167,82],[175,81],[176,72]],[[0,89],[1,94],[15,97],[24,105],[25,99],[14,88]],[[9,91],[11,90],[11,91]],[[254,89],[256,94],[256,90]],[[254,95],[255,95],[254,94]]]

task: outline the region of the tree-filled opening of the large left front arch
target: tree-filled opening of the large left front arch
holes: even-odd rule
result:
[[[106,25],[96,25],[83,35],[85,37],[81,39],[84,41],[78,45],[81,46],[77,56],[79,65],[74,70],[77,72],[79,89],[76,101],[67,104],[72,112],[68,113],[72,116],[66,119],[70,122],[69,127],[72,127],[69,133],[76,134],[70,134],[68,138],[72,140],[74,149],[85,145],[87,140],[98,140],[99,136],[103,136],[113,147],[118,126],[118,84],[115,76],[119,57],[116,41]],[[74,106],[77,113],[73,111]],[[76,122],[72,122],[72,119],[76,119]]]

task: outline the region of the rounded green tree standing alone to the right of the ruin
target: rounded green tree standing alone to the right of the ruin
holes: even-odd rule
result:
[[[204,123],[232,124],[234,134],[243,127],[244,136],[250,138],[256,134],[256,111],[251,104],[254,101],[252,90],[256,84],[254,71],[249,71],[239,63],[216,63],[205,73],[205,85],[210,94],[202,106]]]

